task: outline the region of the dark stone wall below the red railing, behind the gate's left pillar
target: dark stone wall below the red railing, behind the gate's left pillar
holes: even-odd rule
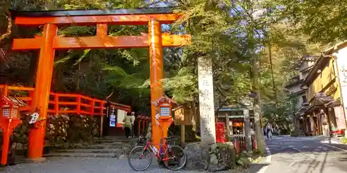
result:
[[[23,121],[12,132],[10,137],[10,156],[22,155],[28,148],[28,119],[30,116],[21,116]],[[46,124],[46,135],[44,144],[54,145],[61,143],[87,142],[94,137],[100,136],[100,116],[78,116],[78,115],[49,115]],[[2,149],[2,130],[0,132],[0,143]],[[9,158],[10,160],[10,158]]]

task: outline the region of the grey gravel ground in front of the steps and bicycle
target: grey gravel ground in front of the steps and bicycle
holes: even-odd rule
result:
[[[242,173],[255,173],[262,165],[254,165]],[[44,163],[24,163],[5,167],[4,173],[128,173],[136,172],[130,168],[127,159],[117,158],[49,158]],[[158,163],[153,160],[151,167],[144,172],[165,173],[174,172],[166,168],[159,167]],[[178,173],[192,173],[198,171],[180,170]],[[221,171],[219,173],[236,173],[234,170]]]

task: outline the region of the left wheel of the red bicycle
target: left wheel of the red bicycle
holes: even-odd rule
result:
[[[128,156],[128,163],[135,171],[144,171],[152,164],[152,154],[144,146],[135,147]]]

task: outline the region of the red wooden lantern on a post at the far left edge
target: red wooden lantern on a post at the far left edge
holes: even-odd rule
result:
[[[17,125],[22,123],[19,119],[19,108],[26,107],[22,100],[2,95],[0,100],[0,127],[3,131],[3,149],[1,152],[1,165],[7,164],[10,135]]]

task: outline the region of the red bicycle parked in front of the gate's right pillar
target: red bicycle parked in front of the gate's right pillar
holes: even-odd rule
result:
[[[140,137],[140,139],[146,140],[146,138],[144,137]],[[137,146],[133,150],[131,150],[128,156],[128,163],[130,167],[133,168],[133,170],[135,171],[147,170],[149,166],[151,166],[152,164],[154,154],[155,157],[158,158],[158,161],[163,162],[169,170],[182,169],[185,166],[185,163],[187,162],[187,155],[185,154],[185,150],[178,145],[167,144],[167,140],[171,140],[171,137],[165,137],[164,139],[164,144],[162,144],[162,139],[160,139],[159,150],[149,140],[147,140],[145,146]],[[137,152],[139,154],[137,154]],[[181,156],[179,156],[179,154],[181,154]],[[133,158],[135,159],[132,160]],[[148,158],[148,162],[145,162],[145,158]],[[137,167],[137,163],[144,163],[144,166]]]

